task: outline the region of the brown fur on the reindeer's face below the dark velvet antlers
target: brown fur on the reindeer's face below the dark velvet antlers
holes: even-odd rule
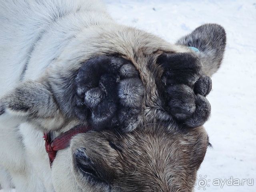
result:
[[[148,124],[128,134],[88,132],[71,144],[73,166],[80,186],[87,185],[76,165],[84,152],[112,191],[190,192],[208,145],[203,127],[166,129],[168,124]]]

